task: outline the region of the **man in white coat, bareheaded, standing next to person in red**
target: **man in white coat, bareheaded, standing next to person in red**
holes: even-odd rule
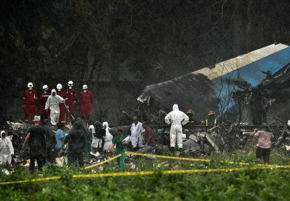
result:
[[[131,137],[130,141],[132,143],[133,149],[137,147],[144,147],[143,145],[143,131],[145,129],[142,127],[142,123],[138,121],[136,116],[133,117],[133,123],[131,125]]]

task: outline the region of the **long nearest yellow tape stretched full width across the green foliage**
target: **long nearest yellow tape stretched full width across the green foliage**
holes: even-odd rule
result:
[[[272,168],[290,168],[290,165],[284,166],[259,166],[259,167],[249,167],[249,168],[221,168],[221,169],[203,169],[203,170],[165,170],[161,173],[163,174],[183,174],[183,173],[207,173],[207,172],[233,172],[233,171],[242,171],[242,170],[257,170],[257,169],[272,169]],[[134,176],[134,175],[151,175],[155,174],[155,171],[139,171],[139,172],[116,172],[116,173],[100,173],[100,174],[75,174],[72,175],[72,178],[87,178],[87,177],[109,177],[109,176]],[[23,181],[9,181],[2,182],[0,185],[4,184],[13,184],[13,183],[27,183],[27,182],[36,182],[36,181],[48,181],[60,179],[60,176],[55,177],[46,177],[38,178],[32,180],[23,180]]]

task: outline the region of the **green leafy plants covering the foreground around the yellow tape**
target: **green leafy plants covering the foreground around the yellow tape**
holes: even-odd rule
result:
[[[95,172],[118,172],[116,163],[103,166],[103,170],[79,171],[68,167],[51,167],[43,176],[61,175],[63,179],[35,183],[1,186],[1,200],[287,200],[290,195],[288,169],[246,170],[240,172],[197,173],[162,175],[161,170],[212,169],[240,167],[226,165],[220,160],[260,163],[254,152],[235,152],[212,155],[211,163],[179,162],[174,160],[151,161],[146,158],[133,160],[138,169],[126,171],[155,170],[155,175],[95,177],[71,179],[72,174]],[[286,165],[285,154],[272,154],[272,164]],[[166,163],[164,163],[166,162]],[[155,167],[153,167],[153,163]],[[159,168],[156,164],[162,164]],[[168,166],[166,166],[168,164]],[[23,180],[39,177],[19,169],[1,181]]]

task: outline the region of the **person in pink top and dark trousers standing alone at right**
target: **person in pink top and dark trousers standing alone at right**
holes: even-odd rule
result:
[[[262,123],[260,129],[254,129],[255,138],[258,138],[256,158],[263,158],[264,165],[269,164],[271,153],[271,140],[274,138],[266,123]]]

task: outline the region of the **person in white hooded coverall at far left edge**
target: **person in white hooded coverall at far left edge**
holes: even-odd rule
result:
[[[0,165],[11,164],[12,157],[14,155],[14,148],[9,137],[6,137],[6,132],[1,131],[0,139]]]

